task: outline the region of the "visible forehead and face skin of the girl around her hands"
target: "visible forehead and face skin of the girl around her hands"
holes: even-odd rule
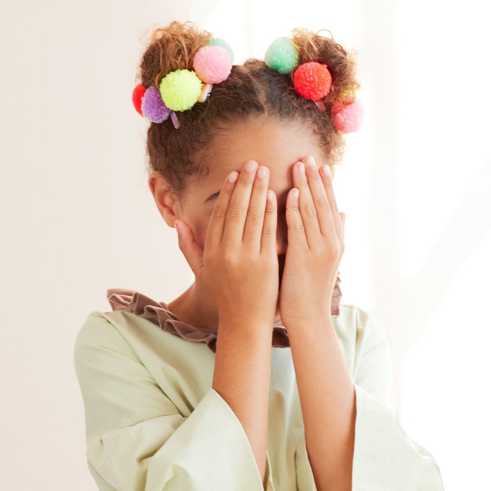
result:
[[[209,174],[186,191],[184,202],[179,204],[175,218],[186,221],[192,228],[196,241],[204,246],[208,223],[219,191],[226,176],[254,160],[269,169],[269,189],[276,194],[278,218],[276,227],[276,253],[280,273],[284,265],[288,232],[285,216],[286,198],[294,187],[292,168],[312,155],[320,167],[324,159],[314,136],[297,122],[256,118],[234,126],[234,131],[221,134],[208,149]]]

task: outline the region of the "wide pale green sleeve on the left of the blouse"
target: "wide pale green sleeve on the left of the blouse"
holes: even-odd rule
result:
[[[264,487],[246,432],[218,392],[210,387],[184,417],[105,317],[88,316],[74,361],[100,490],[273,489],[269,461]]]

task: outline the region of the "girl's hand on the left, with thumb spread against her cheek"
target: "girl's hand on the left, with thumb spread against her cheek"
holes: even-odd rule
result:
[[[251,170],[247,164],[252,164]],[[265,177],[260,178],[256,169],[265,169]],[[273,325],[278,299],[277,205],[274,191],[268,192],[269,170],[259,169],[248,161],[240,174],[234,170],[227,175],[204,247],[185,221],[174,223],[179,226],[179,248],[214,300],[218,318],[264,326]],[[230,182],[230,176],[237,181]]]

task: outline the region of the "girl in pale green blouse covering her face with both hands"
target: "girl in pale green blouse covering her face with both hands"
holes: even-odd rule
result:
[[[329,171],[362,114],[352,56],[294,29],[232,63],[191,22],[142,56],[149,187],[195,281],[169,303],[109,289],[88,315],[89,470],[100,490],[442,490],[392,405],[382,316],[340,305]]]

